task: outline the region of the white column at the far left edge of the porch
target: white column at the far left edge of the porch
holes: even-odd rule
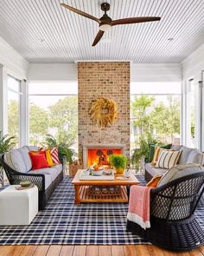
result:
[[[0,131],[3,135],[8,132],[8,93],[7,93],[7,72],[0,64]]]

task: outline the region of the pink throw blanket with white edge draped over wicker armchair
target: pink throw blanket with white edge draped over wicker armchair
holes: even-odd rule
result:
[[[150,189],[151,187],[131,186],[127,219],[143,229],[150,227]]]

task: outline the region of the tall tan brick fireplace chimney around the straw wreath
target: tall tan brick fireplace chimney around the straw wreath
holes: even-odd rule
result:
[[[87,167],[88,149],[120,150],[130,156],[130,62],[78,62],[79,160]],[[99,97],[118,105],[118,120],[99,128],[89,110]]]

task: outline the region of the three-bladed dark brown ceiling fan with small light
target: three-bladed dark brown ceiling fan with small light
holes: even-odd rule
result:
[[[72,10],[77,14],[80,14],[81,16],[86,16],[87,18],[92,19],[93,21],[99,23],[99,32],[96,35],[92,43],[92,46],[95,46],[97,43],[99,43],[99,40],[104,35],[105,31],[111,29],[112,26],[132,24],[132,23],[148,23],[148,22],[159,21],[161,19],[161,17],[159,16],[138,16],[138,17],[128,17],[128,18],[112,21],[112,18],[106,14],[106,12],[110,10],[109,3],[101,3],[101,10],[105,11],[105,14],[100,18],[92,16],[82,10],[73,8],[72,6],[69,6],[66,3],[61,3],[61,6],[67,8],[68,10]]]

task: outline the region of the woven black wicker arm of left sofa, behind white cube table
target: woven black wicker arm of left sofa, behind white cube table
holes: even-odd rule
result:
[[[22,181],[30,181],[38,187],[41,192],[45,191],[45,175],[44,174],[11,174],[14,184],[19,184]]]

